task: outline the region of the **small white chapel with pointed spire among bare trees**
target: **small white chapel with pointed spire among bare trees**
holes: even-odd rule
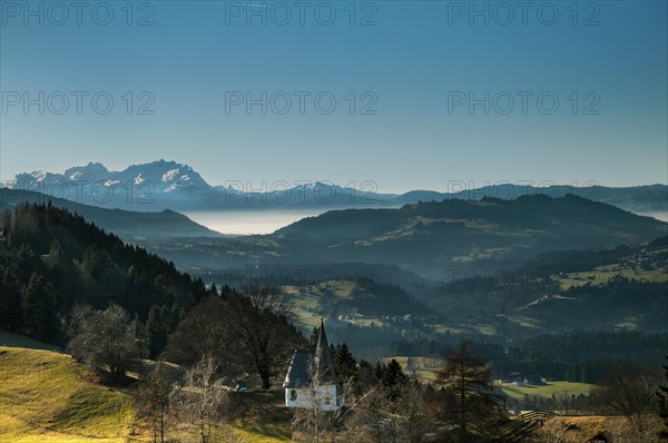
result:
[[[295,351],[283,387],[287,407],[317,407],[321,411],[341,408],[343,396],[322,319],[315,353],[311,350]]]

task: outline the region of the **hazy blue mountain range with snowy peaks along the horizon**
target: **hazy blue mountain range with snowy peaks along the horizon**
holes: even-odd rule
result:
[[[212,186],[188,165],[159,160],[132,165],[121,171],[110,171],[99,163],[89,163],[86,166],[71,167],[63,174],[41,170],[24,173],[4,183],[4,186],[40,191],[92,206],[137,211],[399,208],[418,201],[455,198],[480,200],[493,197],[512,200],[531,195],[559,198],[573,194],[635,214],[661,219],[668,217],[668,185],[578,188],[568,185],[536,187],[503,184],[453,193],[411,190],[404,194],[380,194],[371,183],[361,184],[362,189],[324,181],[301,185],[276,183],[267,184],[266,189],[261,191],[245,190],[245,183],[225,184],[226,186]],[[252,187],[261,186],[253,184]]]

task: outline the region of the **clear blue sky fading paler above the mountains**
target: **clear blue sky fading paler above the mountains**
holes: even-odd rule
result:
[[[2,179],[668,183],[666,1],[0,3]]]

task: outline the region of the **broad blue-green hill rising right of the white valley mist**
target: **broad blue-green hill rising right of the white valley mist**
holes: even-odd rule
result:
[[[445,280],[515,268],[549,250],[648,242],[667,229],[655,218],[573,195],[525,196],[330,210],[271,235],[147,246],[190,268],[370,263]]]

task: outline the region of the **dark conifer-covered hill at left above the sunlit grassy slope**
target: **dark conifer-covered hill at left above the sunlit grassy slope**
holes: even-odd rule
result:
[[[58,342],[59,316],[76,303],[114,302],[146,319],[154,305],[187,311],[206,294],[202,280],[66,209],[6,209],[0,230],[0,328]]]

